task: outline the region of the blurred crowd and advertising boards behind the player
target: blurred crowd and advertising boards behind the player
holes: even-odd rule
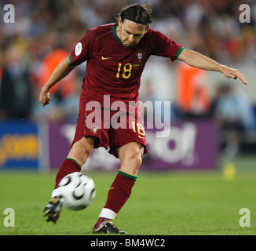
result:
[[[147,131],[144,169],[218,169],[256,153],[256,3],[240,0],[137,0],[152,2],[152,29],[186,49],[239,69],[249,85],[220,73],[152,56],[141,78],[140,100],[171,101],[170,136]],[[41,107],[38,93],[49,75],[92,27],[115,22],[128,0],[1,0],[0,166],[1,169],[58,169],[75,132],[86,63],[51,91]],[[250,23],[240,23],[240,5]],[[6,24],[4,6],[15,8]],[[162,106],[163,107],[163,106]],[[155,112],[155,111],[153,111]],[[157,111],[159,112],[159,111]],[[148,115],[148,113],[145,113]],[[244,163],[244,162],[243,162]],[[87,169],[118,169],[104,149]],[[230,165],[229,165],[230,166]],[[232,171],[231,171],[232,173]]]

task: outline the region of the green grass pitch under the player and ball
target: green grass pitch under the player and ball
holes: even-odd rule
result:
[[[256,170],[238,162],[227,181],[214,172],[146,173],[140,171],[133,192],[115,218],[130,235],[255,235]],[[82,211],[63,209],[57,224],[46,223],[56,173],[0,173],[0,235],[93,235],[115,173],[89,172],[97,185],[93,203]],[[15,226],[5,227],[5,208],[15,212]],[[240,209],[251,212],[251,227],[240,227]]]

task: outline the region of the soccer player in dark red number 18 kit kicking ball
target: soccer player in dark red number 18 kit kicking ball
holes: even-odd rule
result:
[[[119,231],[112,220],[130,197],[133,184],[137,180],[141,157],[146,153],[144,124],[139,109],[136,111],[137,116],[133,117],[134,120],[127,122],[126,128],[109,125],[109,121],[104,121],[103,115],[104,111],[108,110],[111,120],[117,112],[110,109],[112,104],[122,101],[126,108],[120,109],[123,109],[128,118],[129,101],[138,100],[140,78],[149,56],[164,56],[171,61],[178,59],[193,67],[219,71],[228,78],[240,78],[241,82],[247,84],[240,71],[185,49],[166,35],[152,30],[151,12],[150,4],[129,5],[121,10],[115,24],[106,24],[87,31],[71,54],[53,71],[39,95],[42,106],[49,104],[49,91],[53,85],[67,76],[75,66],[87,60],[75,138],[68,158],[64,159],[57,173],[55,188],[64,176],[81,170],[93,148],[109,147],[109,152],[119,158],[120,169],[93,227],[93,232],[96,233],[126,234]],[[104,107],[106,95],[109,98],[108,107]],[[94,110],[91,106],[86,106],[92,104],[92,101],[95,104]],[[90,123],[86,122],[92,112],[102,118],[100,125],[90,126]],[[61,207],[57,190],[54,189],[52,199],[44,210],[46,220],[56,223]]]

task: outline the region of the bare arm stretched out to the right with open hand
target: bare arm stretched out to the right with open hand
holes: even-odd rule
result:
[[[178,56],[178,60],[185,62],[192,67],[197,67],[207,71],[219,71],[223,73],[227,78],[240,78],[243,84],[247,85],[247,80],[243,77],[240,71],[229,68],[225,65],[218,64],[216,61],[210,59],[207,56],[203,56],[193,50],[184,49]]]

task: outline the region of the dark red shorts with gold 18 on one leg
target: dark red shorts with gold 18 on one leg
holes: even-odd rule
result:
[[[94,148],[105,147],[109,153],[118,157],[116,147],[123,147],[130,142],[138,142],[146,150],[146,137],[144,122],[139,108],[134,114],[126,111],[111,111],[110,109],[93,107],[87,109],[84,105],[80,109],[79,118],[75,130],[75,138],[72,145],[82,136],[93,136]]]

